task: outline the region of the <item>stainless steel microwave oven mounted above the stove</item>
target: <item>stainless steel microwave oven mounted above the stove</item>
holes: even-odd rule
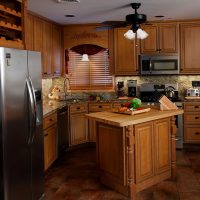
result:
[[[178,55],[141,55],[142,75],[179,74]]]

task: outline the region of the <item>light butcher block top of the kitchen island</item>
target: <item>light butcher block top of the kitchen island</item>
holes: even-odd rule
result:
[[[157,108],[151,108],[149,112],[139,113],[136,115],[126,115],[122,113],[116,113],[115,110],[104,111],[104,112],[95,112],[86,114],[86,116],[90,119],[107,123],[114,126],[128,126],[140,124],[156,119],[161,119],[165,117],[171,117],[174,115],[183,114],[182,109],[178,110],[169,110],[169,111],[161,111]]]

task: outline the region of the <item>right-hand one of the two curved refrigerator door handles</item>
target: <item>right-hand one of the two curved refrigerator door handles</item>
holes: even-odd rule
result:
[[[34,98],[34,92],[32,89],[32,82],[30,80],[30,77],[26,79],[26,85],[28,88],[28,94],[30,99],[30,105],[31,105],[31,124],[30,124],[30,130],[29,130],[29,138],[28,138],[28,144],[30,144],[34,137],[34,130],[36,127],[36,101]]]

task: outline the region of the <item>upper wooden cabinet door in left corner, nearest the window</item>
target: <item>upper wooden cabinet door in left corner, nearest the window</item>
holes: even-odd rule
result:
[[[54,76],[62,74],[62,29],[53,25],[52,28],[52,68]]]

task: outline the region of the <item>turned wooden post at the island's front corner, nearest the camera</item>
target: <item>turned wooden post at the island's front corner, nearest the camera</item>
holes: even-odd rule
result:
[[[136,185],[135,185],[135,131],[132,125],[127,126],[126,133],[126,149],[127,149],[127,184],[130,199],[136,199]]]

